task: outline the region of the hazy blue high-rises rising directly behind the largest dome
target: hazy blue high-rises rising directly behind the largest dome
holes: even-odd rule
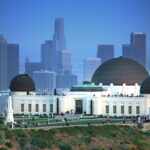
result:
[[[146,34],[143,32],[132,32],[130,35],[130,44],[122,45],[123,57],[133,59],[142,64],[145,68],[146,60]],[[96,71],[100,64],[115,57],[115,49],[112,44],[99,44],[97,46],[97,55],[95,58],[84,60],[83,80],[91,81],[93,72]],[[99,58],[101,61],[98,61]],[[99,63],[101,62],[101,63]],[[99,65],[97,65],[99,64]],[[88,68],[88,69],[87,69]]]

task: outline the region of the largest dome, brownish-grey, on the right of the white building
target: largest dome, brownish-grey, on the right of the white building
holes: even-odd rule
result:
[[[104,85],[134,85],[141,84],[148,76],[141,64],[129,58],[118,57],[100,65],[92,77],[92,82]]]

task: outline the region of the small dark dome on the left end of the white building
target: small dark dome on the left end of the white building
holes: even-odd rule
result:
[[[21,74],[14,77],[10,83],[10,90],[15,91],[35,91],[35,84],[28,74]]]

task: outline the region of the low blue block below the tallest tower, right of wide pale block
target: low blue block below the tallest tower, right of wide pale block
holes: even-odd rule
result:
[[[69,73],[57,74],[56,88],[71,88],[77,84],[77,76]]]

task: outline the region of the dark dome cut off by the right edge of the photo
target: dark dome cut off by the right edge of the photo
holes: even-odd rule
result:
[[[150,94],[150,77],[145,79],[141,85],[140,89],[141,94]]]

